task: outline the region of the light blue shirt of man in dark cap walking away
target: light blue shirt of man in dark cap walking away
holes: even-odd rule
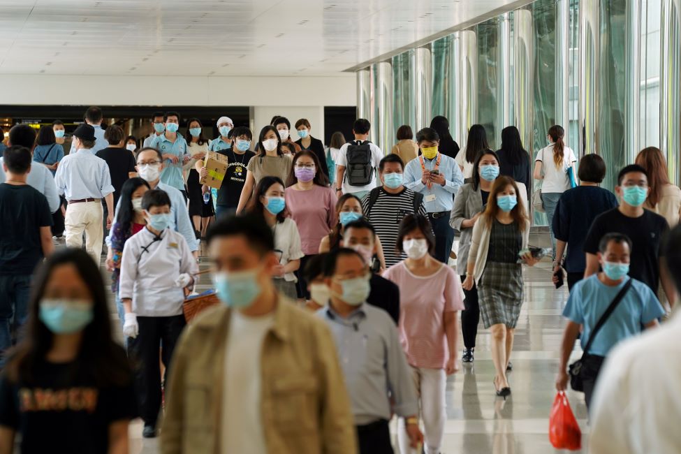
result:
[[[95,156],[92,149],[81,148],[64,156],[57,167],[54,182],[66,200],[105,198],[114,191],[109,166]]]

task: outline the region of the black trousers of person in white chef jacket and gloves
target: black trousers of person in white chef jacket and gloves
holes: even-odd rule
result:
[[[166,366],[166,381],[170,358],[173,357],[177,338],[186,325],[184,315],[170,317],[138,317],[140,334],[136,338],[128,338],[128,356],[135,370],[135,390],[140,416],[145,425],[156,427],[156,420],[161,410],[161,366],[159,365],[159,349],[161,343],[161,360]]]

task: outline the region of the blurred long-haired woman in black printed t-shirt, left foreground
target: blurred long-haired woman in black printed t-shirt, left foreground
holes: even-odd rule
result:
[[[38,268],[29,323],[0,375],[0,453],[127,453],[133,376],[99,267],[81,249]],[[156,351],[158,363],[158,351]]]

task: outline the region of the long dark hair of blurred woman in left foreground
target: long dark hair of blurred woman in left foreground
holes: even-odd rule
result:
[[[47,281],[55,268],[73,265],[92,295],[94,317],[83,328],[78,357],[72,366],[72,376],[94,379],[96,386],[122,386],[129,383],[131,371],[121,346],[112,339],[111,322],[104,280],[99,267],[82,249],[61,249],[38,266],[29,300],[29,318],[22,341],[10,353],[6,371],[13,381],[36,384],[36,366],[43,363],[52,349],[54,335],[40,320],[40,302]]]

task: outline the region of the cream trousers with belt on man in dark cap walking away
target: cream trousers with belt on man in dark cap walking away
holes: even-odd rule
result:
[[[85,232],[85,251],[99,265],[102,258],[104,210],[101,202],[69,203],[64,218],[66,246],[80,249]]]

